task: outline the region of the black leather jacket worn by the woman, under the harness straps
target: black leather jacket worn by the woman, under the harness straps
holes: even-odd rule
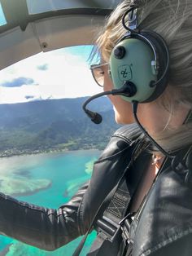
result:
[[[131,196],[142,179],[149,154],[143,151],[133,161],[133,150],[135,153],[135,148],[139,148],[138,135],[137,127],[134,132],[130,132],[129,126],[117,130],[102,156],[94,163],[89,183],[59,210],[31,205],[0,194],[0,232],[46,250],[57,249],[85,234],[95,215],[94,223],[105,209],[110,192],[125,170],[129,173],[127,182]],[[132,166],[129,165],[131,161]],[[191,161],[190,155],[187,158],[190,170]],[[192,189],[185,184],[183,173],[177,174],[168,168],[157,179],[141,214],[132,223],[133,256],[192,254]]]

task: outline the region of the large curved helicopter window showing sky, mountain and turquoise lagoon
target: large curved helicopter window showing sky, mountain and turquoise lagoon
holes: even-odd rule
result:
[[[92,49],[75,46],[41,53],[0,71],[0,192],[58,209],[90,179],[94,161],[117,129],[107,97],[89,104],[103,115],[101,125],[82,110],[89,95],[102,91],[89,70],[89,64],[98,63],[97,56],[89,59]],[[0,254],[72,255],[80,240],[45,253],[0,236]]]

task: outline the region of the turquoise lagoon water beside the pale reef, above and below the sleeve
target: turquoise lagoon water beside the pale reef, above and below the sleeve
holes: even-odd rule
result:
[[[35,192],[33,195],[17,196],[17,198],[21,201],[57,209],[71,198],[82,183],[90,178],[91,166],[99,154],[98,151],[89,150],[3,158],[0,160],[0,174],[6,171],[10,176],[23,174],[28,179],[49,179],[51,181],[49,188]],[[89,251],[89,245],[94,237],[94,232],[89,235],[81,256]],[[81,238],[78,238],[54,252],[46,252],[6,236],[0,236],[0,255],[70,256],[80,241]]]

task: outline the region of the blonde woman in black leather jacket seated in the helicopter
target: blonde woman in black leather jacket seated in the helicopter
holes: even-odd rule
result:
[[[111,77],[108,74],[113,63],[111,52],[133,20],[124,14],[130,8],[137,9],[137,26],[133,29],[159,33],[170,52],[171,65],[168,80],[164,80],[164,92],[150,102],[138,104],[136,115],[159,144],[151,147],[151,138],[141,135],[138,126],[124,126],[112,136],[95,162],[90,182],[59,210],[29,205],[1,194],[3,234],[52,250],[95,227],[98,239],[89,255],[191,254],[192,125],[185,119],[192,105],[192,1],[143,0],[137,1],[138,8],[132,4],[128,0],[122,2],[107,20],[98,38],[103,65],[92,69],[95,74],[100,68],[95,79],[99,78],[104,90],[111,90],[115,84],[111,80],[113,72]],[[122,19],[126,21],[125,26]],[[131,100],[127,101],[129,96],[109,96],[118,123],[134,122],[136,111],[132,110]],[[164,157],[164,150],[171,161],[173,155],[177,156],[172,164]]]

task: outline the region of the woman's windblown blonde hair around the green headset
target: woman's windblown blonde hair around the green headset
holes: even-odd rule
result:
[[[168,44],[171,59],[168,87],[157,102],[169,109],[171,119],[178,104],[192,108],[192,0],[121,2],[107,19],[97,40],[105,61],[109,60],[112,49],[126,32],[121,20],[133,2],[138,5],[139,28],[159,33]],[[164,129],[155,139],[166,150],[181,148],[192,143],[192,123],[184,124],[177,130]]]

